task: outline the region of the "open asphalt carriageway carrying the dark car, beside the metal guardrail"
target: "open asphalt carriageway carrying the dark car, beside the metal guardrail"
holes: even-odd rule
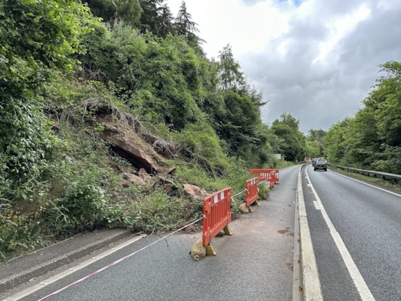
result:
[[[302,178],[324,300],[401,300],[401,195],[310,166]],[[342,239],[351,260],[333,237]],[[352,262],[360,277],[351,277]]]

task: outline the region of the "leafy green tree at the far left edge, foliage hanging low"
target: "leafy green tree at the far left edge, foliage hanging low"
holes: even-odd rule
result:
[[[70,55],[94,22],[75,0],[1,1],[0,197],[35,185],[46,167],[53,139],[40,95],[55,72],[73,69]]]

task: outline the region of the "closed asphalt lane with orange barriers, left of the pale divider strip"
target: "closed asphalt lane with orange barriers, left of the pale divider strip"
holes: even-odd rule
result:
[[[234,219],[229,225],[232,236],[212,240],[216,256],[199,262],[189,256],[200,232],[166,239],[151,235],[55,282],[44,277],[32,280],[46,286],[21,300],[48,295],[48,300],[292,300],[298,170],[299,166],[281,170],[280,184],[268,200],[252,207],[253,213]],[[63,275],[68,268],[75,267],[57,273]],[[55,273],[48,277],[57,277]],[[17,290],[29,291],[29,286]],[[15,300],[13,293],[18,292],[8,292],[6,300]]]

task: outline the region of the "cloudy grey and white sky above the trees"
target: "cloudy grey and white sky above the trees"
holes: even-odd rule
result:
[[[166,0],[174,17],[182,0]],[[362,107],[379,64],[401,62],[400,0],[185,0],[207,57],[230,44],[241,71],[299,129],[324,129]]]

